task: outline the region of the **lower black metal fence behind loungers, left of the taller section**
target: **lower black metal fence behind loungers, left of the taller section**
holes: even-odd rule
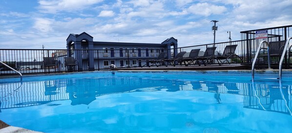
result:
[[[199,56],[203,56],[207,47],[215,46],[216,55],[222,54],[227,45],[237,44],[236,49],[244,60],[245,53],[243,51],[243,41],[223,42],[216,44],[206,44],[191,47],[182,47],[178,49],[106,49],[106,50],[49,50],[49,49],[0,49],[0,61],[18,70],[22,74],[56,72],[65,71],[94,71],[105,70],[111,68],[130,68],[151,65],[147,60],[157,59],[160,53],[166,52],[165,58],[175,57],[177,53],[186,51],[184,57],[188,57],[192,49],[200,49]],[[53,57],[57,61],[55,66],[45,67],[43,57]],[[76,67],[68,68],[65,66],[64,57],[74,57],[78,60]],[[244,61],[245,62],[245,61]],[[233,61],[233,63],[243,63],[241,61]],[[183,64],[182,64],[183,65]],[[9,68],[0,65],[0,75],[16,74]],[[49,69],[49,70],[47,70]],[[46,71],[45,71],[46,70]]]

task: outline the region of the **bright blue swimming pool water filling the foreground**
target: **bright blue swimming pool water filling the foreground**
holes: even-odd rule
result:
[[[0,120],[45,133],[292,133],[292,78],[266,77],[85,73],[0,79]]]

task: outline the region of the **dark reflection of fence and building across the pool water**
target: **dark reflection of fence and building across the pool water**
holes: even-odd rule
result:
[[[87,84],[84,84],[86,81]],[[243,96],[243,108],[291,115],[292,86],[285,83],[246,83],[225,81],[188,81],[143,77],[103,76],[99,78],[39,79],[0,84],[0,111],[28,106],[51,105],[50,102],[71,100],[71,105],[88,105],[102,95],[166,91],[199,91],[213,93],[212,104],[225,104],[226,95]],[[226,99],[226,98],[223,98]],[[56,105],[57,106],[57,105]]]

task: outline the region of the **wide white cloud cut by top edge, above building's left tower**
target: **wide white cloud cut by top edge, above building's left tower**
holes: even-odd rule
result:
[[[39,0],[39,9],[43,13],[55,14],[61,11],[81,11],[103,0]]]

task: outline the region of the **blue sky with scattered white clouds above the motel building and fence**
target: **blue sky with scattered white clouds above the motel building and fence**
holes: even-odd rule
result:
[[[292,0],[0,0],[0,49],[66,49],[69,34],[94,41],[178,47],[240,40],[240,31],[292,25]]]

